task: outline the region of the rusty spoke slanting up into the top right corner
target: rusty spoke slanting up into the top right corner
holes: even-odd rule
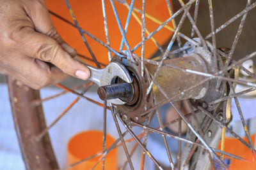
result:
[[[238,13],[237,15],[235,15],[233,18],[231,18],[230,20],[228,20],[227,22],[225,22],[223,25],[221,25],[220,27],[218,27],[218,29],[216,29],[215,33],[217,34],[218,32],[220,32],[222,29],[224,29],[225,27],[227,27],[229,24],[231,24],[232,22],[234,22],[235,20],[237,20],[237,18],[241,17],[242,15],[244,15],[244,13],[248,13],[248,11],[252,10],[253,8],[255,8],[256,6],[256,2],[251,4],[250,6],[247,6],[243,11],[241,11],[240,13]],[[208,34],[205,39],[208,39],[211,37],[211,34]]]

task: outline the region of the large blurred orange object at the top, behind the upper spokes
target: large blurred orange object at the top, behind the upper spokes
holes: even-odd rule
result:
[[[127,2],[130,4],[131,0]],[[70,16],[70,13],[68,11],[68,8],[65,4],[65,1],[45,0],[45,3],[49,10],[54,11],[54,13],[60,15],[63,18],[66,18],[70,22],[73,22],[72,17]],[[74,11],[74,15],[76,16],[77,21],[81,26],[81,28],[90,32],[91,34],[93,34],[93,36],[96,36],[101,41],[106,43],[101,1],[100,0],[91,0],[91,1],[72,0],[70,1],[70,6]],[[123,4],[120,4],[116,1],[115,1],[115,6],[118,12],[119,18],[122,22],[122,27],[124,29],[125,21],[126,21],[129,10]],[[141,10],[141,6],[142,6],[141,1],[135,1],[134,6]],[[141,14],[137,12],[134,12],[134,13],[136,13],[136,15],[138,15],[138,18],[140,18],[141,20]],[[166,5],[166,0],[147,1],[146,13],[148,13],[149,15],[152,15],[153,17],[157,18],[161,22],[164,22],[167,18],[170,17],[170,14],[168,12],[168,7]],[[106,1],[106,15],[108,20],[110,46],[116,52],[118,52],[120,48],[122,36],[120,34],[120,31],[115,19],[115,15],[113,13],[113,10],[109,1]],[[53,15],[51,15],[51,18],[54,23],[54,26],[56,27],[61,37],[68,44],[73,46],[78,53],[86,55],[87,57],[90,57],[92,59],[77,29],[63,22],[59,18],[54,17]],[[170,22],[168,25],[172,26],[172,22]],[[152,22],[152,20],[149,20],[148,18],[146,18],[146,27],[149,32],[154,31],[154,29],[156,29],[158,26],[159,24],[156,24],[155,22]],[[164,45],[164,43],[166,43],[166,41],[170,39],[172,34],[173,34],[172,31],[166,28],[162,28],[159,32],[157,32],[157,34],[155,34],[154,38],[160,45]],[[147,34],[145,34],[145,36],[147,36]],[[95,57],[97,58],[97,60],[104,64],[108,64],[108,50],[104,46],[97,43],[92,38],[89,38],[86,35],[85,37],[89,45],[91,46],[92,51],[95,54]],[[133,48],[135,45],[137,45],[141,41],[141,25],[138,24],[138,22],[132,16],[131,16],[131,21],[128,27],[126,37],[131,48]],[[124,50],[125,49],[126,48],[124,46]],[[152,40],[148,39],[148,41],[145,43],[145,57],[146,58],[151,57],[151,55],[153,55],[156,51],[157,51],[157,46],[153,43]],[[140,56],[141,48],[138,48],[138,50],[136,50],[135,53]],[[90,62],[89,60],[84,60],[84,61],[88,64],[93,64],[93,62]]]

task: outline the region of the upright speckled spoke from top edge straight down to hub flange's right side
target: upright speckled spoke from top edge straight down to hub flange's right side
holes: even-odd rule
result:
[[[145,59],[145,27],[146,27],[146,21],[145,21],[145,6],[146,6],[146,0],[142,0],[142,15],[141,15],[141,76],[144,76],[144,59]]]

